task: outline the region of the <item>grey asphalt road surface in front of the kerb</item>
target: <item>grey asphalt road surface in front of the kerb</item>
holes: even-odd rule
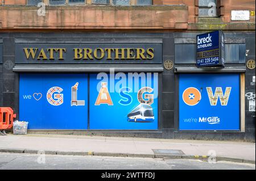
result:
[[[75,155],[37,155],[0,153],[0,170],[7,169],[253,169],[254,164],[219,161],[209,163],[195,159],[158,159],[128,157],[96,157]]]

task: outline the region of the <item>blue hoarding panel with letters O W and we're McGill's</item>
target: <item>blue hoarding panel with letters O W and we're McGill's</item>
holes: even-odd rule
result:
[[[180,74],[179,129],[240,129],[239,74]]]

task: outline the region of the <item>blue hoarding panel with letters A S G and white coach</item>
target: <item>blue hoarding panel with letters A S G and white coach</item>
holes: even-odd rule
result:
[[[90,74],[90,129],[158,129],[158,74],[131,75]]]

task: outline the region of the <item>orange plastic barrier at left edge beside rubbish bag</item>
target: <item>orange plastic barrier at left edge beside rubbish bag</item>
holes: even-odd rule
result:
[[[0,107],[0,129],[11,129],[16,114],[10,107]]]

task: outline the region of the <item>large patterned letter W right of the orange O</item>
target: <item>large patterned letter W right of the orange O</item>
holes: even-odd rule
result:
[[[216,90],[212,92],[212,87],[207,87],[207,94],[210,101],[210,106],[216,106],[218,102],[218,97],[220,97],[221,106],[226,106],[229,101],[229,95],[232,87],[226,87],[225,95],[223,95],[223,91],[221,87],[216,87]]]

